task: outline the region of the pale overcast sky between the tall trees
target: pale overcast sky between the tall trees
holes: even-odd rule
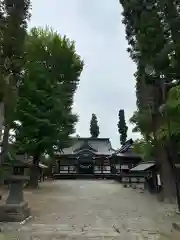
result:
[[[92,113],[98,117],[100,137],[119,147],[119,109],[129,118],[136,108],[135,65],[126,52],[125,30],[119,0],[32,0],[30,27],[46,25],[75,40],[85,67],[77,90],[74,111],[79,115],[77,134],[88,137]]]

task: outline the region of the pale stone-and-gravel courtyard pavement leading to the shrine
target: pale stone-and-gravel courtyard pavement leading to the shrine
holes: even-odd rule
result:
[[[0,224],[0,240],[180,239],[171,232],[174,206],[114,181],[47,181],[25,196],[32,219]]]

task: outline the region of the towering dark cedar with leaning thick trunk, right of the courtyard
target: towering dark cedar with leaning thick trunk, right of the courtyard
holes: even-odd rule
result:
[[[137,112],[131,119],[137,124],[137,130],[150,140],[154,141],[157,130],[164,122],[160,117],[159,106],[163,103],[162,77],[165,81],[172,81],[174,77],[179,79],[179,6],[177,1],[125,1],[120,0],[123,7],[123,23],[126,27],[131,58],[137,64],[136,96]],[[147,66],[150,66],[151,74],[147,74]],[[153,71],[152,71],[153,70]],[[163,177],[164,195],[174,195],[172,184],[173,176],[164,154],[164,149],[159,146],[158,159]]]

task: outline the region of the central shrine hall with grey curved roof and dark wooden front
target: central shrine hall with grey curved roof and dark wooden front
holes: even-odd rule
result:
[[[76,138],[71,147],[57,154],[54,176],[111,177],[110,156],[114,152],[108,138]]]

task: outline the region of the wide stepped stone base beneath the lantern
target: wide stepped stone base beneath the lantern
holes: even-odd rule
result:
[[[21,222],[30,216],[27,202],[0,205],[0,222]]]

